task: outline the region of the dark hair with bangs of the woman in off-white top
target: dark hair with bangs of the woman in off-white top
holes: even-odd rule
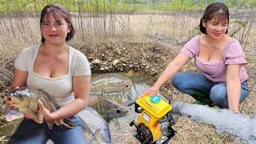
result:
[[[58,4],[47,5],[45,8],[42,9],[40,25],[42,25],[42,19],[45,17],[48,18],[50,14],[53,15],[56,20],[59,18],[63,18],[68,23],[70,33],[66,34],[66,41],[70,41],[71,38],[74,38],[74,26],[71,22],[70,13],[68,12],[68,10]],[[46,39],[42,37],[41,42],[45,41]]]

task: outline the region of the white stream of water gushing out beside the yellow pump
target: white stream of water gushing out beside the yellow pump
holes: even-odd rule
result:
[[[194,121],[215,126],[220,134],[232,134],[245,143],[256,143],[256,119],[228,109],[213,109],[207,106],[175,102],[175,114],[190,116]]]

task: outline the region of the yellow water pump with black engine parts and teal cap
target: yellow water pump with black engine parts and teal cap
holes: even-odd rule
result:
[[[174,137],[176,131],[171,126],[178,116],[171,113],[170,103],[158,95],[146,94],[138,97],[134,106],[140,115],[138,122],[133,120],[130,126],[135,126],[134,137],[140,142],[166,144]]]

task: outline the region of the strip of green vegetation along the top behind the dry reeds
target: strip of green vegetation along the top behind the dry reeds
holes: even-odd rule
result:
[[[256,0],[1,0],[0,12],[35,12],[47,3],[60,3],[72,11],[78,10],[198,10],[212,2],[225,2],[230,8],[251,8]]]

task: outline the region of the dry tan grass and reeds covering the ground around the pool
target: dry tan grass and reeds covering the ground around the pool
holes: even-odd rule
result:
[[[99,47],[116,46],[118,48],[127,48],[126,45],[129,45],[130,49],[134,46],[134,50],[140,50],[143,53],[147,51],[146,49],[160,45],[173,51],[173,54],[169,55],[168,59],[170,60],[189,38],[198,33],[195,27],[198,25],[200,16],[201,14],[194,12],[74,14],[73,21],[77,34],[70,44],[85,51],[88,55],[96,54]],[[251,17],[243,18],[246,21],[255,19]],[[2,17],[0,18],[0,27],[0,84],[4,88],[10,85],[11,70],[18,52],[26,46],[37,45],[40,42],[38,15],[27,14]],[[236,28],[238,28],[238,24],[231,22],[230,32],[236,30]],[[250,116],[253,115],[256,107],[255,35],[256,26],[252,21],[250,25],[241,28],[234,35],[235,38],[242,40],[243,46],[246,46],[246,58],[249,62],[247,70],[250,75],[248,82],[251,90],[249,97],[242,103],[240,110],[242,114]],[[119,39],[122,39],[122,41],[118,41]],[[126,43],[123,44],[124,42]],[[139,45],[133,44],[133,42],[138,42]],[[152,43],[150,44],[150,42]],[[133,54],[131,56],[138,57],[138,60],[140,59],[141,55],[136,55],[136,51]],[[186,65],[183,70],[195,70],[193,62]],[[173,98],[174,101],[194,101],[193,98],[188,97],[186,94],[181,94],[172,86],[169,87],[169,93],[165,94]],[[174,130],[177,130],[177,135],[170,143],[241,143],[228,134],[216,134],[213,126],[194,122],[186,117],[179,118]],[[114,131],[114,143],[136,143],[131,131],[128,126],[126,130]]]

